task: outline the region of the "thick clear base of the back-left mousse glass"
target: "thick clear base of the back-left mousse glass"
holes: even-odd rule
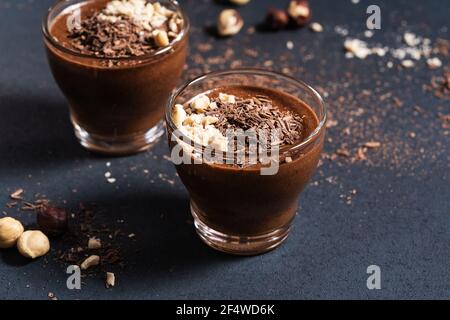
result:
[[[164,123],[160,121],[144,134],[132,135],[120,139],[90,134],[73,119],[75,136],[86,149],[107,155],[128,155],[145,151],[152,147],[164,134]]]

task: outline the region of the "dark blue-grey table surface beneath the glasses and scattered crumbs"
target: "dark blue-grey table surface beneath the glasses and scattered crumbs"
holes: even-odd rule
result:
[[[335,27],[364,39],[365,10],[372,3],[313,2],[323,33],[249,32],[269,5],[285,3],[254,0],[239,9],[246,29],[222,40],[209,26],[224,5],[182,1],[193,24],[185,79],[230,65],[291,73],[327,95],[337,123],[329,128],[325,153],[344,148],[351,154],[324,157],[284,245],[241,258],[215,252],[196,237],[187,192],[164,157],[164,139],[149,152],[125,158],[95,156],[78,145],[41,41],[41,18],[52,0],[2,0],[0,214],[34,222],[34,213],[4,206],[20,187],[28,200],[44,194],[71,212],[79,203],[95,204],[99,221],[136,236],[117,240],[125,266],[112,267],[117,285],[108,290],[100,273],[85,278],[81,290],[66,288],[66,264],[55,258],[59,240],[36,261],[2,250],[0,299],[47,299],[48,292],[59,299],[449,298],[450,136],[439,115],[450,110],[448,100],[423,90],[443,68],[432,71],[421,61],[402,69],[389,57],[346,59]],[[365,39],[370,43],[398,46],[405,31],[432,41],[449,38],[449,1],[375,3],[382,29]],[[220,59],[224,54],[228,59]],[[440,58],[448,66],[448,58]],[[388,61],[394,68],[385,67]],[[366,161],[352,161],[371,140],[381,147],[367,151]],[[106,182],[106,171],[116,183]],[[381,268],[381,290],[366,287],[372,264]]]

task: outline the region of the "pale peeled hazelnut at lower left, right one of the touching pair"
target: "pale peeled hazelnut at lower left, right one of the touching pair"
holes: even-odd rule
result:
[[[28,230],[17,240],[17,249],[26,258],[35,259],[50,250],[50,242],[45,234],[39,230]]]

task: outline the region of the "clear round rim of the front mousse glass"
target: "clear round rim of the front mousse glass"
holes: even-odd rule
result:
[[[324,99],[322,96],[317,92],[316,89],[314,89],[312,86],[308,85],[306,82],[296,79],[294,77],[288,76],[286,74],[283,74],[281,72],[277,71],[271,71],[266,69],[260,69],[260,68],[236,68],[236,69],[227,69],[227,70],[219,70],[219,71],[213,71],[206,73],[204,75],[201,75],[199,77],[196,77],[192,80],[186,81],[184,84],[182,84],[178,89],[176,89],[172,95],[170,96],[170,99],[166,106],[166,112],[165,112],[165,120],[166,124],[170,127],[172,131],[177,130],[177,126],[173,122],[172,119],[172,109],[175,105],[175,100],[189,87],[198,84],[199,82],[202,82],[204,80],[208,80],[208,78],[211,77],[217,77],[217,76],[227,76],[227,75],[237,75],[237,74],[249,74],[249,75],[262,75],[262,76],[275,76],[275,77],[281,77],[284,80],[288,80],[292,83],[295,83],[296,85],[299,85],[309,91],[313,97],[317,100],[319,104],[319,108],[322,111],[322,115],[317,114],[314,110],[314,113],[316,114],[317,118],[319,119],[319,124],[317,127],[308,135],[307,138],[301,140],[298,143],[287,145],[280,148],[280,152],[290,152],[290,151],[298,151],[306,146],[308,146],[311,142],[315,141],[315,139],[320,135],[322,130],[325,128],[325,124],[327,122],[327,106],[325,104]],[[301,97],[298,97],[301,98]],[[303,101],[303,100],[302,100]],[[306,103],[306,102],[305,102]],[[307,104],[308,105],[308,104]],[[309,105],[308,105],[309,106]],[[190,139],[188,136],[184,135],[184,133],[179,132],[179,136],[182,137],[183,142],[186,142],[188,144],[194,145],[195,142]],[[170,137],[169,137],[170,140]]]

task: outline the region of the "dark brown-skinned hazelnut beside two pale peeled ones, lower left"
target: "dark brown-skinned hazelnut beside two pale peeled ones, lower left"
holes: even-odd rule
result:
[[[58,207],[46,205],[37,214],[39,228],[48,236],[58,236],[67,229],[67,212]]]

